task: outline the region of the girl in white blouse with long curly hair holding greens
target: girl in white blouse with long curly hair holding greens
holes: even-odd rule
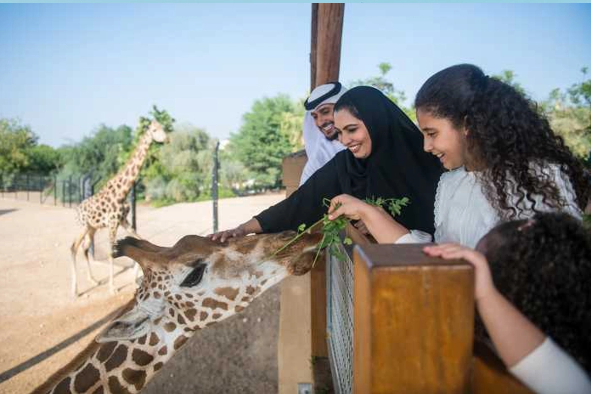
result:
[[[501,220],[539,211],[581,217],[590,193],[582,163],[535,103],[513,87],[459,64],[431,76],[417,93],[415,108],[424,150],[450,170],[437,187],[436,242],[473,248]],[[335,111],[339,128],[338,102]],[[333,198],[329,211],[332,219],[341,214],[361,219],[381,243],[424,241],[420,232],[348,195]]]

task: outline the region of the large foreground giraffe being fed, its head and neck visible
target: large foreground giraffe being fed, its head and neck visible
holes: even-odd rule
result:
[[[72,362],[33,394],[138,393],[197,331],[247,307],[288,275],[308,272],[320,233],[294,232],[217,243],[184,236],[171,248],[126,237],[116,256],[144,271],[134,299]]]

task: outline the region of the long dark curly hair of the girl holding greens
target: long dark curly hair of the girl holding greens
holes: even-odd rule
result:
[[[545,164],[568,175],[580,209],[590,197],[589,174],[550,128],[537,104],[472,64],[441,70],[423,84],[415,108],[465,128],[470,157],[486,171],[477,172],[483,191],[499,216],[516,219],[525,201],[536,207],[534,194],[554,209],[566,205]],[[512,184],[511,189],[508,186]],[[517,198],[517,207],[511,204]]]

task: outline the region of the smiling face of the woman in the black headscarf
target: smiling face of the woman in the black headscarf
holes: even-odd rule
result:
[[[335,127],[339,131],[339,141],[358,159],[371,154],[371,138],[361,119],[355,118],[347,109],[335,112]]]

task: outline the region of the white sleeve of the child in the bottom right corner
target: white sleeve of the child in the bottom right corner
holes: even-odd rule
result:
[[[550,337],[509,369],[538,394],[589,394],[591,380]]]

